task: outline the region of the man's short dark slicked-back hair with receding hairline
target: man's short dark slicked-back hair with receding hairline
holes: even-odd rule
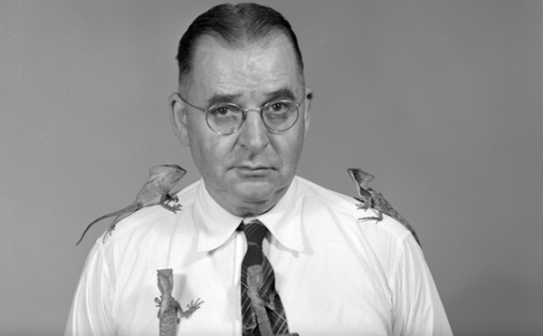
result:
[[[303,81],[303,61],[298,39],[291,24],[280,13],[257,4],[216,5],[196,17],[179,41],[176,56],[179,84],[184,85],[185,78],[193,70],[195,46],[201,37],[208,35],[227,47],[242,48],[267,41],[279,34],[284,34],[291,42],[300,79]]]

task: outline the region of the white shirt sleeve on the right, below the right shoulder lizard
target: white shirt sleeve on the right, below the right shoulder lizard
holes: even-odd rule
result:
[[[452,335],[423,251],[412,235],[405,238],[403,248],[399,248],[397,253],[393,283],[393,335]]]

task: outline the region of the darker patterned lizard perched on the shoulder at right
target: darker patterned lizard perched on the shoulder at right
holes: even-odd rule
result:
[[[367,210],[369,207],[372,207],[377,211],[376,217],[360,218],[360,220],[375,219],[379,222],[383,220],[383,214],[391,216],[405,226],[405,228],[413,234],[414,240],[416,240],[418,245],[421,245],[418,236],[414,232],[413,226],[407,222],[404,216],[401,216],[395,211],[394,207],[392,207],[385,197],[383,197],[383,194],[378,193],[372,187],[369,187],[369,182],[373,181],[375,177],[360,168],[348,168],[347,171],[357,187],[358,197],[355,197],[355,199],[362,202],[362,204],[358,205],[358,208]]]

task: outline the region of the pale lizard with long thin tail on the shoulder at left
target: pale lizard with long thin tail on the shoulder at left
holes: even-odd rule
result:
[[[100,222],[100,220],[117,216],[113,222],[110,224],[108,231],[104,235],[103,242],[106,242],[108,235],[111,235],[111,232],[115,229],[115,226],[119,221],[127,216],[130,216],[134,212],[138,211],[145,206],[163,206],[169,211],[176,213],[176,210],[181,208],[181,205],[168,206],[167,202],[175,201],[177,202],[177,197],[171,197],[169,195],[170,189],[176,185],[176,183],[185,176],[186,170],[177,166],[177,165],[160,165],[154,166],[149,169],[149,180],[141,188],[136,200],[129,206],[126,206],[119,211],[112,212],[108,215],[101,216],[95,219],[83,232],[80,240],[75,244],[79,245],[83,237],[90,229],[90,226],[93,226],[95,223]]]

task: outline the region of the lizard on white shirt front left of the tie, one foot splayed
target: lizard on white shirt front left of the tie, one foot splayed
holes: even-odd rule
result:
[[[188,319],[192,314],[200,308],[204,303],[200,299],[192,300],[186,305],[188,308],[185,312],[181,309],[179,302],[172,296],[174,288],[174,274],[171,268],[157,270],[158,290],[160,290],[160,299],[155,298],[158,310],[157,317],[159,322],[160,336],[175,336],[177,333],[177,324],[181,322],[181,318]]]

